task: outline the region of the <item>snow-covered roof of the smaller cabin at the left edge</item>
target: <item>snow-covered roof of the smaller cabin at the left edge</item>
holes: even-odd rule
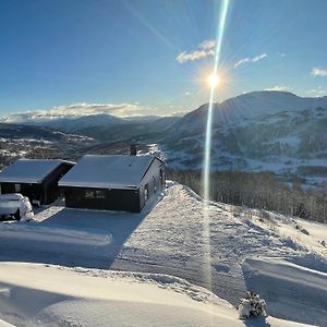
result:
[[[41,183],[61,164],[73,165],[60,159],[20,159],[0,172],[0,182]]]

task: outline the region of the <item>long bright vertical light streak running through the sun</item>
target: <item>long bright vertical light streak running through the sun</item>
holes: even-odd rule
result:
[[[204,195],[204,222],[203,222],[203,240],[204,240],[204,281],[208,288],[211,289],[211,251],[210,251],[210,221],[209,221],[209,206],[210,198],[210,154],[211,154],[211,129],[213,129],[213,108],[215,90],[219,84],[218,68],[220,64],[220,50],[222,37],[226,25],[226,17],[229,8],[229,0],[222,0],[220,4],[220,15],[217,28],[217,40],[215,51],[215,62],[211,75],[208,80],[210,86],[206,137],[205,137],[205,153],[204,153],[204,169],[203,169],[203,195]]]

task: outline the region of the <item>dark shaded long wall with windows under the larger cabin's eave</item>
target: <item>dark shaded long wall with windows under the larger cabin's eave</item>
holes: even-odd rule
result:
[[[97,210],[140,213],[138,190],[109,190],[64,186],[65,206]]]

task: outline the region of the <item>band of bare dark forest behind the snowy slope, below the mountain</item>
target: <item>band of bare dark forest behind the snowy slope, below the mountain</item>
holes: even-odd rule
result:
[[[201,171],[168,170],[167,177],[203,195]],[[210,199],[327,222],[327,190],[286,183],[272,172],[219,171],[210,174]]]

